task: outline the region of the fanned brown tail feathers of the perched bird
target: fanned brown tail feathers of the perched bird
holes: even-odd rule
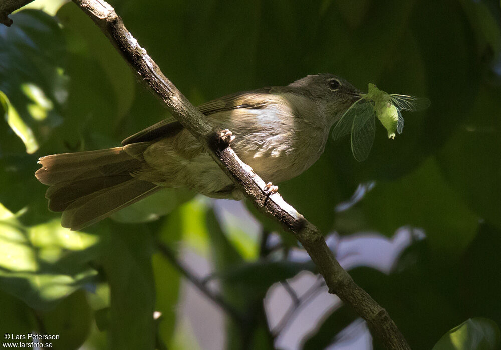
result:
[[[50,187],[49,209],[62,211],[61,225],[79,230],[155,193],[159,186],[132,177],[148,143],[42,157],[37,179]]]

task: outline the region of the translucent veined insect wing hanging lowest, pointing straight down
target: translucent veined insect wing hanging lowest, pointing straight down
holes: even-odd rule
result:
[[[371,106],[372,107],[372,106]],[[351,152],[356,160],[364,161],[369,156],[374,143],[375,118],[374,111],[355,116],[351,132]]]

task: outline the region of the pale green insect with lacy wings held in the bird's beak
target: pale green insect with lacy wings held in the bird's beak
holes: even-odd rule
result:
[[[367,159],[374,143],[375,117],[394,139],[395,132],[402,133],[404,118],[400,111],[420,111],[430,105],[430,100],[409,95],[387,94],[369,83],[367,94],[351,105],[332,130],[334,140],[351,134],[351,151],[359,162]]]

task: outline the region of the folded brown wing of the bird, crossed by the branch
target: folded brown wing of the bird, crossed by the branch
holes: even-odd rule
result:
[[[198,106],[198,110],[205,116],[217,114],[218,112],[230,111],[235,109],[261,109],[267,106],[266,93],[272,88],[263,88],[247,92],[239,92],[227,95],[216,100],[212,100]],[[122,145],[128,145],[136,142],[154,141],[169,135],[175,135],[184,127],[176,118],[166,118],[122,141]]]

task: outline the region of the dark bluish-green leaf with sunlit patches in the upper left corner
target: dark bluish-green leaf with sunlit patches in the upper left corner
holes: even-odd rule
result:
[[[57,22],[42,11],[20,11],[12,19],[12,27],[0,27],[0,91],[5,94],[0,100],[26,152],[34,153],[62,121],[65,44]],[[12,146],[0,141],[4,148]]]

